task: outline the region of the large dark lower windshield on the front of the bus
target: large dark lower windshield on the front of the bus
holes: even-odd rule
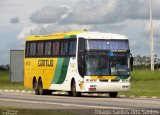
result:
[[[86,75],[129,75],[127,53],[86,52]]]

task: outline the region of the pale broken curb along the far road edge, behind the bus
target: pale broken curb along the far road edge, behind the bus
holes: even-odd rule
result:
[[[8,89],[0,89],[0,92],[4,92],[4,93],[23,93],[23,94],[34,94],[35,91],[32,90],[8,90]],[[63,92],[63,91],[58,91],[58,92],[53,92],[53,94],[68,94],[67,92]],[[99,94],[99,93],[83,93],[83,95],[85,96],[108,96],[108,94]],[[130,96],[126,96],[126,95],[119,95],[118,97],[121,98],[142,98],[142,99],[160,99],[160,97],[157,96],[135,96],[135,95],[130,95]]]

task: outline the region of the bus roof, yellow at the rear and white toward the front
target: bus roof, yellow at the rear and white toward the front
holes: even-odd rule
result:
[[[29,36],[27,41],[75,38],[75,36],[87,39],[128,39],[127,36],[113,33],[72,31],[53,33],[49,35]]]

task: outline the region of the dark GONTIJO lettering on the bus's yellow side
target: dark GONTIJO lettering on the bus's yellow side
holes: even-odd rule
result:
[[[53,67],[53,60],[38,60],[39,67]]]

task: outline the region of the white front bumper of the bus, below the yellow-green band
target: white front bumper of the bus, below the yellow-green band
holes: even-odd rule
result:
[[[117,82],[117,83],[84,83],[83,92],[119,92],[119,91],[129,91],[129,82]]]

